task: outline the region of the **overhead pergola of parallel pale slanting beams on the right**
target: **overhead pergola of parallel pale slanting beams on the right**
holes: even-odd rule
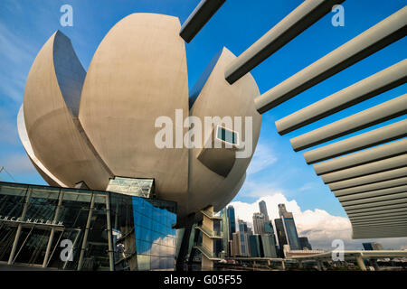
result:
[[[335,5],[344,1],[304,1],[232,61],[225,70],[225,79],[232,85],[325,14],[330,13]],[[213,0],[213,4],[215,2],[220,7],[224,1]],[[183,27],[193,27],[194,15],[205,14],[205,11],[209,9],[199,5]],[[207,22],[210,17],[203,18]],[[199,23],[203,21],[196,20],[196,26],[199,26]],[[200,26],[202,27],[203,25]],[[185,33],[185,28],[183,30]],[[406,33],[407,6],[404,6],[260,95],[255,99],[258,111],[263,114],[278,107],[279,104],[402,39]],[[401,86],[406,79],[407,60],[393,63],[385,70],[279,119],[276,122],[279,135],[286,135],[366,99],[374,98]],[[298,135],[290,142],[294,151],[299,152],[395,117],[405,116],[406,111],[407,95],[394,96],[389,101],[353,116]],[[304,154],[306,162],[314,164],[317,175],[327,183],[344,207],[352,223],[353,238],[407,237],[406,135],[407,119],[403,119],[336,143],[320,146]]]

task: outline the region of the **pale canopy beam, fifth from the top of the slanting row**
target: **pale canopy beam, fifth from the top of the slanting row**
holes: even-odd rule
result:
[[[323,144],[343,135],[349,135],[366,127],[383,123],[395,117],[400,117],[406,112],[407,94],[404,94],[375,107],[365,109],[353,116],[342,118],[327,126],[322,126],[304,135],[291,138],[290,143],[294,151],[299,152],[308,147]]]

